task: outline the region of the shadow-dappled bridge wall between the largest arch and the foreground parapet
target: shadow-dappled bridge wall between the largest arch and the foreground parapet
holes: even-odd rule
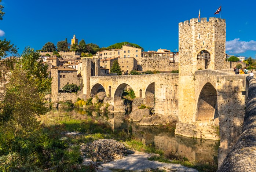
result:
[[[220,147],[218,163],[232,150],[242,133],[245,115],[245,77],[248,75],[217,76]]]

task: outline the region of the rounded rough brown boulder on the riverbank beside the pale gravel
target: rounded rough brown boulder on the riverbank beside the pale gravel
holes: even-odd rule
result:
[[[89,147],[93,161],[109,162],[125,157],[127,149],[124,144],[113,139],[94,140]]]

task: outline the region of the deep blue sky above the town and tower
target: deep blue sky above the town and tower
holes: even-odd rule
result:
[[[95,43],[107,47],[128,41],[147,50],[178,48],[178,23],[213,13],[222,4],[226,19],[227,54],[256,54],[256,1],[170,1],[170,0],[2,0],[6,14],[0,21],[0,39],[19,48],[39,50],[48,41]]]

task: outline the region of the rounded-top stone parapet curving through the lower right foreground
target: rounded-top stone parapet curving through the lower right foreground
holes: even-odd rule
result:
[[[241,135],[218,172],[254,171],[256,167],[256,79],[246,77],[246,110]],[[241,126],[240,126],[241,127]],[[239,130],[239,131],[240,131]],[[235,140],[234,140],[235,141]],[[220,158],[220,157],[219,157]],[[221,162],[220,162],[221,163]],[[253,170],[254,169],[254,170]]]

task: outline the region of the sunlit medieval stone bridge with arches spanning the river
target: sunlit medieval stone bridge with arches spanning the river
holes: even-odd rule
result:
[[[180,92],[183,85],[180,84],[178,73],[95,76],[90,77],[89,94],[95,96],[99,89],[104,89],[110,98],[109,103],[116,108],[122,91],[129,85],[136,98],[142,98],[148,106],[154,106],[156,114],[179,119],[176,134],[220,139],[221,164],[242,132],[245,77],[233,74],[232,70],[198,70],[187,80],[194,89],[191,94]],[[186,115],[183,116],[184,112]]]

